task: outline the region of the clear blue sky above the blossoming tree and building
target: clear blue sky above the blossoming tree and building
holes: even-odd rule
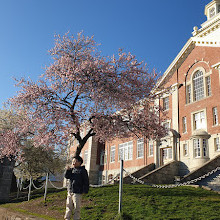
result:
[[[103,55],[124,48],[163,73],[211,0],[0,0],[0,108],[16,95],[13,77],[37,80],[54,35],[92,36]]]

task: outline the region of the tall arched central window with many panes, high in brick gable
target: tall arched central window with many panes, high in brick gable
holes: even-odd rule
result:
[[[194,101],[204,97],[203,72],[198,70],[193,76]]]

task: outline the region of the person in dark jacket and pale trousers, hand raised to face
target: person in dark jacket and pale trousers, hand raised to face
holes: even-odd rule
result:
[[[80,156],[75,156],[72,161],[72,167],[67,167],[65,178],[69,179],[66,213],[64,219],[70,220],[70,216],[74,209],[74,220],[80,219],[80,209],[82,194],[89,191],[89,178],[85,166],[81,166],[83,159]]]

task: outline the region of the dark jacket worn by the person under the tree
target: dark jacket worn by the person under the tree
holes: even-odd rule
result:
[[[70,180],[68,189],[71,193],[88,193],[89,177],[85,166],[66,170],[65,178]]]

